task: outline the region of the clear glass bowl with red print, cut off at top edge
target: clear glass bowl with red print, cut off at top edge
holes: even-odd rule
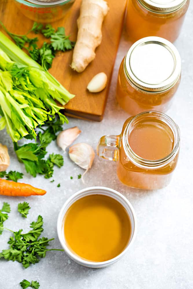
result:
[[[50,23],[62,18],[75,0],[14,0],[17,8],[28,18],[42,23]]]

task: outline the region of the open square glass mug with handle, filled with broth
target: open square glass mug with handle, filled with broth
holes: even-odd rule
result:
[[[117,162],[122,183],[153,190],[169,184],[179,147],[177,124],[166,114],[148,111],[128,118],[120,135],[102,136],[97,154]]]

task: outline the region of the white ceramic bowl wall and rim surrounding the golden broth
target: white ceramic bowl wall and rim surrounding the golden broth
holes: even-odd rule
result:
[[[107,260],[107,261],[103,261],[103,262],[89,262],[87,260],[80,258],[79,256],[74,254],[67,247],[65,237],[64,237],[64,216],[65,216],[68,208],[78,199],[85,197],[85,196],[88,196],[88,195],[91,195],[91,194],[102,194],[102,195],[106,195],[106,196],[112,197],[113,199],[117,200],[125,208],[128,216],[130,218],[130,222],[131,222],[131,236],[130,236],[130,240],[129,240],[126,248],[119,255],[117,255],[115,258]],[[86,267],[102,268],[102,267],[106,267],[106,266],[111,265],[111,264],[115,263],[116,261],[118,261],[124,255],[124,253],[126,253],[126,251],[129,249],[129,247],[131,246],[131,244],[133,243],[133,241],[135,239],[135,235],[137,232],[137,220],[136,220],[135,211],[134,211],[132,205],[126,199],[126,197],[124,197],[122,194],[120,194],[119,192],[112,190],[110,188],[106,188],[106,187],[90,187],[90,188],[86,188],[86,189],[83,189],[83,190],[76,192],[69,199],[67,199],[67,201],[64,203],[64,205],[63,205],[63,207],[60,210],[60,213],[58,215],[57,232],[58,232],[58,238],[60,240],[60,244],[64,248],[65,253],[72,260],[74,260],[78,264],[86,266]]]

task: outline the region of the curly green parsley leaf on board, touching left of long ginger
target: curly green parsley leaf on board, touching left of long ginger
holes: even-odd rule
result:
[[[70,36],[65,35],[64,27],[58,27],[57,31],[50,37],[54,50],[66,51],[72,49],[75,45],[75,42],[69,40]]]

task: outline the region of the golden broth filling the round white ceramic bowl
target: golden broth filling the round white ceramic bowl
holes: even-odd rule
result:
[[[102,262],[119,255],[128,244],[130,219],[115,199],[93,194],[77,200],[65,215],[67,245],[79,257]]]

